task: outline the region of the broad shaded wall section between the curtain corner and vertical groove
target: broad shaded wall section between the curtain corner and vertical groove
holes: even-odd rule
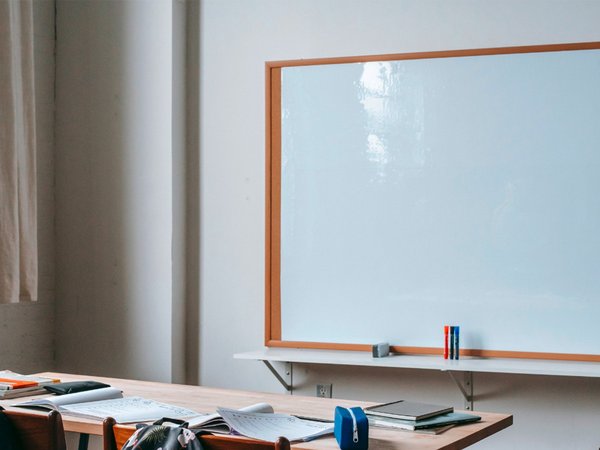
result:
[[[57,2],[59,370],[171,381],[173,5]]]

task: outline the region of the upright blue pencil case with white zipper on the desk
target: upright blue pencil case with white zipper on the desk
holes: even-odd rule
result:
[[[336,406],[333,434],[342,450],[367,450],[369,422],[362,408]]]

